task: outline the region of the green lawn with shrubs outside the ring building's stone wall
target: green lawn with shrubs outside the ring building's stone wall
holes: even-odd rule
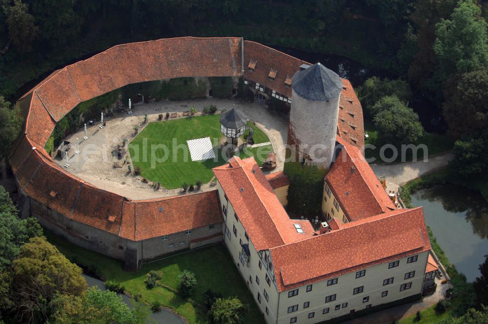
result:
[[[184,254],[174,255],[166,260],[149,263],[137,273],[123,270],[122,262],[105,257],[96,252],[69,243],[61,237],[44,229],[48,241],[63,253],[66,258],[97,272],[105,280],[117,280],[130,294],[142,294],[142,300],[151,304],[160,301],[163,306],[170,307],[184,316],[191,324],[207,323],[206,310],[193,306],[172,291],[155,287],[148,290],[144,284],[144,276],[149,270],[157,270],[162,279],[159,281],[177,289],[178,275],[183,269],[195,273],[198,284],[192,298],[203,305],[203,293],[207,289],[220,292],[224,297],[237,296],[244,304],[249,305],[245,323],[264,323],[261,312],[254,302],[235,264],[224,245],[213,245]]]

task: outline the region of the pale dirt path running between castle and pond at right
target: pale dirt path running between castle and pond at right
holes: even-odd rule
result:
[[[452,159],[452,153],[447,152],[429,157],[426,162],[404,162],[395,164],[371,164],[377,177],[385,177],[386,182],[404,185],[428,172],[442,168]]]

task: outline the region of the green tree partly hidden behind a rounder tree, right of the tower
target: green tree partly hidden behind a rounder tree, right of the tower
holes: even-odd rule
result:
[[[373,117],[377,111],[373,111],[375,103],[385,96],[395,95],[401,101],[408,102],[412,99],[412,92],[407,81],[400,79],[389,80],[371,77],[359,86],[358,99],[361,101],[366,113]]]

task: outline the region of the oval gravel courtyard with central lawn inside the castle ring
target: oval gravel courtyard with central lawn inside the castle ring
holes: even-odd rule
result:
[[[216,156],[219,157],[217,162],[213,162],[213,160],[192,162],[188,154],[189,162],[187,164],[191,164],[191,166],[178,163],[178,168],[175,167],[171,159],[164,163],[156,163],[157,167],[155,169],[145,169],[144,162],[136,162],[135,166],[139,165],[141,167],[141,176],[131,175],[128,172],[127,165],[123,163],[124,159],[119,159],[113,153],[123,138],[126,138],[129,143],[142,142],[143,137],[146,136],[144,135],[145,133],[147,133],[146,138],[148,142],[151,141],[151,136],[155,136],[154,140],[160,143],[161,141],[167,140],[168,137],[172,139],[174,137],[173,135],[178,135],[176,136],[177,142],[184,144],[186,150],[187,140],[205,137],[220,138],[222,133],[220,133],[219,112],[215,115],[200,116],[202,115],[203,108],[209,105],[216,105],[219,111],[224,109],[229,110],[235,107],[243,112],[249,122],[253,124],[255,130],[254,139],[255,143],[258,144],[256,144],[256,147],[249,148],[247,154],[245,151],[241,152],[241,158],[251,155],[257,157],[258,150],[265,157],[265,152],[272,149],[277,154],[277,167],[271,172],[283,170],[285,151],[282,148],[286,142],[288,128],[288,120],[285,116],[266,109],[260,101],[246,102],[227,99],[203,99],[158,101],[133,105],[132,115],[123,114],[108,118],[104,117],[104,121],[106,122],[104,128],[99,127],[100,121],[95,121],[94,125],[91,126],[87,123],[86,136],[88,139],[86,141],[83,140],[83,136],[85,135],[83,128],[66,138],[66,141],[71,142],[72,145],[71,150],[68,152],[69,166],[66,168],[66,171],[101,189],[134,200],[180,195],[182,194],[180,187],[183,182],[190,184],[196,180],[203,182],[201,191],[213,190],[215,187],[211,186],[213,178],[211,168],[222,165],[226,161],[226,159],[221,158],[222,155],[218,150],[216,151]],[[182,116],[183,112],[187,111],[190,106],[194,106],[198,111],[193,118],[178,117],[159,121],[159,114],[165,115],[169,112],[178,113],[178,116]],[[146,124],[143,123],[144,115],[148,116],[148,122]],[[141,124],[144,124],[143,128],[140,128],[139,133],[135,134],[133,129],[134,125]],[[152,126],[153,124],[161,126]],[[163,127],[163,125],[168,127]],[[155,127],[155,129],[152,129],[152,127]],[[74,153],[77,138],[79,139],[80,154]],[[264,144],[264,141],[269,141],[270,144],[260,146]],[[177,159],[183,159],[183,155],[185,154],[183,150],[180,149],[177,153]],[[140,154],[142,157],[142,151],[140,151]],[[54,159],[54,161],[61,167],[66,163],[65,159],[61,159],[60,157]],[[119,162],[122,167],[114,168],[114,162]],[[184,171],[178,171],[177,169],[184,169]],[[132,171],[134,171],[134,167],[132,167]],[[147,182],[142,182],[142,178],[144,177],[149,182],[162,182],[161,189],[155,190]]]

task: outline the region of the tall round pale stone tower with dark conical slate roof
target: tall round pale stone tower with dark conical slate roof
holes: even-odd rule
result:
[[[341,78],[321,63],[293,76],[288,144],[296,145],[301,161],[330,166],[341,90]]]

